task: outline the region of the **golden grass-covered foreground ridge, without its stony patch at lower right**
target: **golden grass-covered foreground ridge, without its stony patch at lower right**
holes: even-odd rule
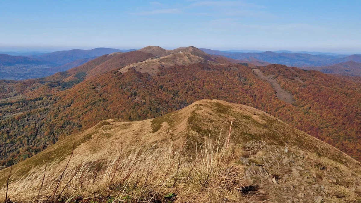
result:
[[[272,153],[279,153],[285,146],[307,151],[312,159],[305,161],[310,161],[311,168],[315,167],[314,159],[331,160],[334,164],[327,166],[341,174],[339,177],[344,175],[338,165],[355,177],[361,174],[360,163],[351,157],[265,112],[205,99],[154,119],[105,120],[83,133],[66,137],[14,165],[17,172],[10,178],[9,195],[19,202],[39,199],[44,202],[52,198],[100,202],[184,199],[252,202],[252,197],[245,197],[242,192],[249,182],[244,180],[244,166],[239,162],[240,156],[249,154],[244,151],[249,141],[276,145]],[[77,147],[70,158],[73,143]],[[49,152],[52,157],[47,161]],[[69,166],[64,170],[68,160]],[[250,161],[258,164],[255,167],[264,162],[261,155],[251,157]],[[41,187],[45,163],[48,168]],[[32,164],[33,169],[29,167]],[[2,180],[6,180],[8,172],[0,171]],[[0,194],[5,194],[5,190],[2,187]]]

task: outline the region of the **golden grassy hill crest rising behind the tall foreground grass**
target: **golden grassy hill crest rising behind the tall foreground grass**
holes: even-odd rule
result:
[[[117,119],[102,121],[93,128],[61,139],[45,151],[21,161],[14,165],[13,171],[17,171],[17,174],[25,174],[31,167],[43,165],[49,153],[51,153],[50,160],[65,159],[70,154],[73,143],[76,147],[75,154],[84,154],[84,156],[97,154],[102,156],[102,159],[109,159],[114,157],[122,146],[134,142],[143,143],[148,147],[157,142],[171,141],[179,144],[189,139],[195,143],[208,134],[211,126],[213,127],[210,138],[217,140],[221,129],[225,133],[231,121],[233,122],[231,143],[242,144],[256,140],[280,146],[297,146],[347,167],[360,168],[360,163],[336,148],[291,128],[265,112],[245,105],[204,99],[154,119],[135,122],[123,122]],[[0,185],[6,181],[8,173],[9,168],[0,170]]]

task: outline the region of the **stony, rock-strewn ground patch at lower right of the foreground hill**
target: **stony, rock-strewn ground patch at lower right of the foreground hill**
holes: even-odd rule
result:
[[[242,188],[251,201],[272,203],[361,202],[361,177],[353,170],[298,148],[251,141],[240,157]]]

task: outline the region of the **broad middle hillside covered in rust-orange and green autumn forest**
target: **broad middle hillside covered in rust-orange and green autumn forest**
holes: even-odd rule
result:
[[[87,72],[1,83],[1,165],[24,160],[107,118],[154,118],[204,98],[258,108],[361,160],[361,86],[356,80],[221,60],[159,65],[151,75],[135,66],[121,72],[125,65],[116,66],[119,60],[104,66],[106,56],[95,60],[87,63]],[[112,70],[89,76],[96,67]]]

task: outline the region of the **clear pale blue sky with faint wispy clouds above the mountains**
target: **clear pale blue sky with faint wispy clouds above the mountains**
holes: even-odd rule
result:
[[[257,49],[361,53],[360,0],[0,0],[0,51]]]

